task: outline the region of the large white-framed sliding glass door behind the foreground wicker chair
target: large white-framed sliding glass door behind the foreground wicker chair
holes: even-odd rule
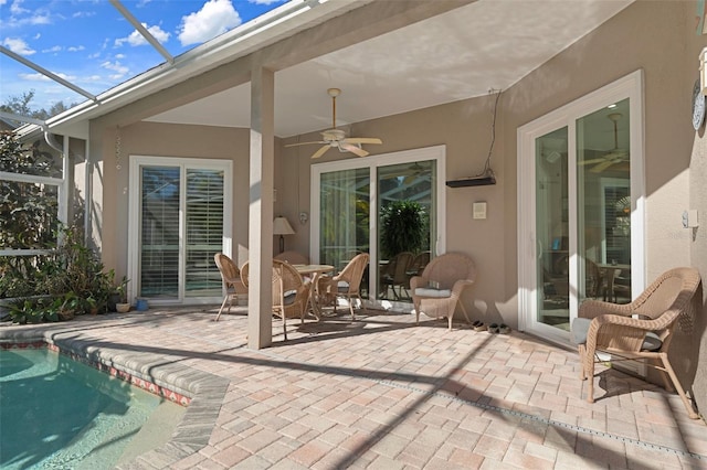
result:
[[[643,288],[641,75],[519,129],[521,325],[567,342],[587,299]]]

